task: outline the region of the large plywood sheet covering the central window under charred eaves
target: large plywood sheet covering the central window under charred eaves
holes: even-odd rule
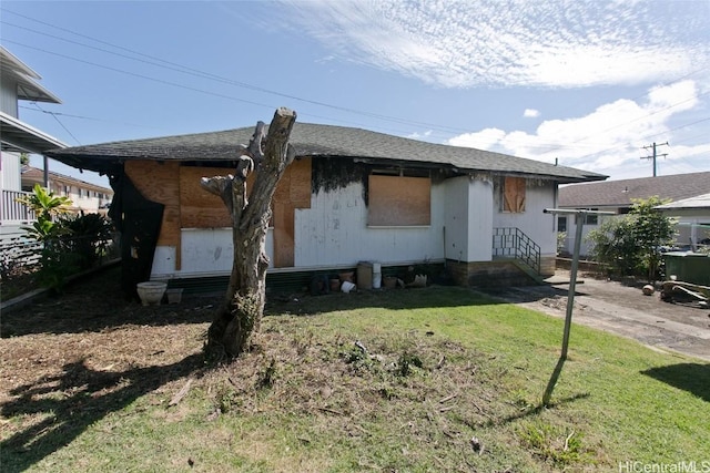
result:
[[[369,176],[367,225],[418,226],[432,223],[428,177]]]

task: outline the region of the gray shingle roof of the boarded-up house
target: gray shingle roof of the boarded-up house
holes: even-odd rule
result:
[[[231,161],[235,147],[246,144],[254,127],[222,132],[133,140],[53,150],[48,156],[70,166],[106,172],[128,160]],[[426,143],[345,126],[296,123],[291,144],[297,156],[342,156],[375,162],[444,166],[463,172],[491,171],[555,179],[560,183],[601,181],[607,176],[500,153]]]

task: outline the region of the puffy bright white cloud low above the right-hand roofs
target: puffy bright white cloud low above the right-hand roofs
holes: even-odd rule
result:
[[[669,121],[699,106],[699,91],[689,80],[653,88],[647,95],[645,101],[622,99],[604,104],[585,116],[545,121],[535,133],[485,128],[455,136],[447,144],[548,163],[559,158],[561,165],[612,176],[632,174],[633,171],[628,171],[630,167],[642,169],[647,166],[640,161],[647,154],[642,146],[653,141],[670,141],[672,145],[673,130]],[[666,152],[669,154],[667,165],[681,166],[677,172],[691,172],[693,163],[707,162],[710,145],[671,146]],[[696,169],[702,167],[706,166],[698,165]]]

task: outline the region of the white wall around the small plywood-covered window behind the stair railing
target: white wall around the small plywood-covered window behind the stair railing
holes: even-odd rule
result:
[[[501,193],[494,193],[494,228],[517,227],[540,246],[541,256],[557,254],[557,223],[552,214],[545,214],[545,208],[555,207],[555,183],[528,179],[525,191],[525,212],[515,214],[503,212]],[[568,233],[569,235],[569,233]]]

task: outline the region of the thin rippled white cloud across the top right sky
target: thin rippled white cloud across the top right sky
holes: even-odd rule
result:
[[[703,0],[286,4],[283,21],[341,60],[447,88],[638,84],[710,65]]]

